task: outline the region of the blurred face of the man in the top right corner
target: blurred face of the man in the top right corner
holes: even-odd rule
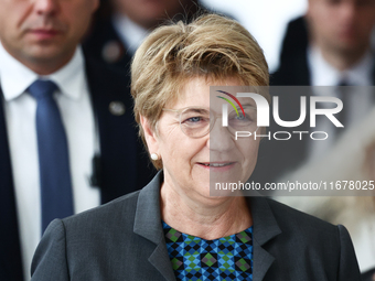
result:
[[[363,51],[375,24],[375,0],[310,0],[307,15],[317,44],[335,52]]]

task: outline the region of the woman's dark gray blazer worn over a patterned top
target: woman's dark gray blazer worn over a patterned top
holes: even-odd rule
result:
[[[173,281],[160,217],[159,173],[135,192],[55,219],[32,263],[32,281]],[[360,280],[351,238],[333,226],[264,197],[249,198],[254,281]]]

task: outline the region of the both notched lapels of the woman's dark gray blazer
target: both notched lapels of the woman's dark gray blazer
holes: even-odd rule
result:
[[[139,193],[136,209],[133,231],[139,236],[154,242],[157,248],[149,257],[150,263],[156,267],[167,280],[175,280],[169,259],[167,245],[160,216],[160,186],[163,174],[160,171],[156,177]],[[254,281],[260,281],[272,264],[275,257],[262,248],[281,234],[281,229],[265,197],[249,197],[251,216],[254,221]]]

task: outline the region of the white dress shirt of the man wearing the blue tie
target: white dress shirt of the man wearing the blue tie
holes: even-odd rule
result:
[[[82,50],[78,47],[71,62],[60,71],[39,76],[0,44],[0,85],[4,96],[25,280],[30,279],[31,260],[41,239],[36,100],[26,93],[28,87],[40,77],[58,86],[54,98],[68,141],[75,213],[98,206],[100,202],[99,190],[93,188],[88,182],[97,136]]]

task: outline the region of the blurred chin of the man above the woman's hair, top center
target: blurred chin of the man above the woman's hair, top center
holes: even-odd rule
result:
[[[160,20],[183,12],[191,0],[113,0],[115,9],[144,29],[152,29]]]

